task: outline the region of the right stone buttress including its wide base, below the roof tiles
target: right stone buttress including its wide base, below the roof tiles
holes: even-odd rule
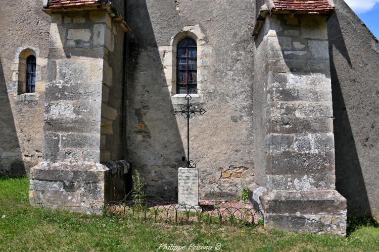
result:
[[[250,200],[264,209],[267,227],[344,236],[326,28],[333,8],[279,11],[272,3],[262,6],[254,31],[256,184]]]

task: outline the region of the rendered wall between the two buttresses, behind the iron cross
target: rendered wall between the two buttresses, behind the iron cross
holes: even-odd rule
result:
[[[186,120],[170,113],[167,51],[184,27],[203,34],[201,103],[191,120],[191,159],[200,176],[200,199],[235,199],[254,181],[252,87],[254,2],[250,0],[137,1],[127,5],[126,138],[133,169],[148,193],[177,197],[177,169],[186,156]],[[198,59],[199,62],[199,59]]]

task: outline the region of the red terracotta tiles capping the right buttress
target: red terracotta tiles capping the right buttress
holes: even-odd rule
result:
[[[273,0],[275,11],[329,12],[334,7],[327,0]]]

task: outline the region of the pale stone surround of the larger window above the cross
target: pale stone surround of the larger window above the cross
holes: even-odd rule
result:
[[[209,78],[208,68],[212,54],[212,46],[206,41],[205,34],[199,25],[185,26],[175,36],[171,37],[169,46],[160,46],[159,53],[164,69],[166,86],[170,92],[172,104],[185,104],[185,94],[176,93],[176,54],[177,45],[183,38],[192,38],[197,43],[197,94],[191,94],[193,103],[202,103],[204,93],[207,91],[207,81]]]

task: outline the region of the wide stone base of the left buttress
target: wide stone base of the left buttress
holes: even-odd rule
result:
[[[105,203],[125,196],[129,164],[41,162],[30,170],[30,204],[101,214]]]

